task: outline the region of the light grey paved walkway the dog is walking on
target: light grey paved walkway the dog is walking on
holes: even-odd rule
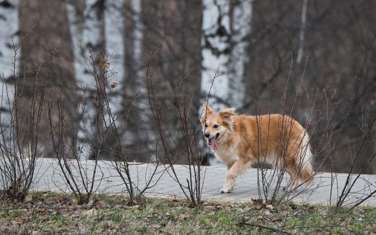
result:
[[[81,162],[83,166],[87,169],[88,179],[92,178],[92,172],[94,171],[94,162],[86,161]],[[72,162],[71,164],[77,165],[77,162]],[[167,167],[167,166],[166,166]],[[177,177],[179,181],[187,186],[187,180],[189,179],[189,168],[183,165],[174,166]],[[77,171],[77,167],[73,168],[76,170],[75,174],[77,177],[80,175]],[[150,175],[155,170],[155,166],[151,164],[136,164],[130,168],[130,176],[133,182],[139,189],[143,189],[146,182],[149,182]],[[38,190],[51,189],[51,190],[63,190],[69,191],[65,179],[63,177],[62,171],[56,160],[52,159],[38,159],[37,163],[37,174],[36,174],[36,185],[34,188]],[[249,171],[240,177],[236,181],[236,185],[231,193],[221,194],[220,189],[223,187],[224,177],[226,175],[226,167],[203,167],[201,177],[202,182],[202,197],[213,200],[236,200],[236,201],[250,201],[251,198],[259,198],[258,192],[258,171],[257,169],[249,169]],[[268,190],[269,194],[273,192],[275,187],[275,182],[273,179],[275,177],[270,177],[273,171],[268,170],[267,175],[268,182],[270,182],[271,188]],[[123,172],[124,174],[124,172]],[[261,174],[261,173],[260,173]],[[125,174],[124,174],[125,175]],[[352,176],[354,180],[356,175]],[[96,178],[94,183],[94,189],[97,192],[114,192],[114,193],[126,193],[124,191],[125,185],[123,180],[119,177],[118,172],[114,169],[114,166],[109,161],[99,162],[99,167],[96,169]],[[182,189],[179,184],[174,180],[174,174],[171,169],[165,168],[161,165],[156,169],[156,174],[153,176],[149,189],[146,189],[146,195],[156,195],[156,196],[177,196],[184,197]],[[347,174],[336,174],[322,173],[318,175],[316,184],[311,188],[300,187],[299,190],[293,191],[289,197],[293,198],[294,201],[301,203],[324,203],[328,204],[329,201],[335,202],[338,195],[341,194],[343,186],[346,182]],[[86,180],[86,179],[85,179]],[[287,184],[288,177],[285,175],[282,182],[282,186]],[[282,190],[281,193],[285,191]],[[370,192],[376,190],[376,175],[361,175],[361,177],[356,181],[351,193],[346,198],[345,204],[354,203],[366,197]],[[188,194],[188,190],[186,190]],[[264,196],[264,193],[261,192]],[[375,194],[376,195],[376,194]],[[376,205],[376,196],[368,198],[365,204]]]

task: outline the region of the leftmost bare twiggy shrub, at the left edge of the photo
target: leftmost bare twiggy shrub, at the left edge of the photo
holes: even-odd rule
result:
[[[35,25],[34,25],[35,26]],[[31,30],[30,30],[31,31]],[[29,33],[30,33],[29,31]],[[13,77],[5,80],[3,74],[2,110],[0,111],[0,173],[1,196],[9,201],[22,201],[35,180],[37,159],[44,155],[41,120],[44,115],[44,95],[50,78],[50,66],[56,53],[56,45],[51,46],[47,61],[36,58],[33,76],[16,71],[18,52],[23,40],[18,43],[12,40]],[[41,71],[42,63],[47,63]],[[25,93],[31,95],[26,99]]]

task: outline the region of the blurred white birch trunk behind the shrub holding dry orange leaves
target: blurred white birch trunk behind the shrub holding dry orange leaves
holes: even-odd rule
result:
[[[100,111],[103,105],[100,102],[95,102],[99,100],[96,89],[100,88],[96,88],[96,82],[90,71],[92,59],[89,58],[88,50],[92,49],[94,55],[105,53],[105,1],[80,0],[76,2],[67,0],[67,5],[77,85],[82,89],[88,88],[89,90],[86,110],[83,113],[79,110],[79,115],[84,116],[82,120],[85,122],[79,125],[83,128],[78,131],[79,142],[84,143],[84,140],[89,140],[89,145],[81,146],[83,156],[96,159],[100,156],[100,143],[103,141],[99,136],[99,130],[103,127],[104,117]],[[81,91],[80,94],[83,95],[83,92]]]

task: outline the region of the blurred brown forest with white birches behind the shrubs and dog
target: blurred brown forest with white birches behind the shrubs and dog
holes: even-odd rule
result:
[[[159,49],[153,62],[158,101],[167,107],[177,80],[186,77],[193,128],[199,127],[202,102],[218,66],[223,75],[215,79],[210,94],[215,111],[237,107],[237,113],[255,114],[255,99],[262,107],[272,78],[273,102],[267,95],[263,112],[283,112],[280,101],[286,87],[295,93],[303,77],[302,94],[335,94],[333,102],[339,104],[331,117],[332,130],[341,128],[349,112],[336,164],[322,168],[346,171],[352,162],[349,148],[355,149],[362,139],[362,100],[371,114],[376,113],[375,12],[374,0],[0,0],[0,71],[3,84],[11,83],[11,37],[17,44],[39,19],[17,55],[16,70],[24,71],[27,80],[36,56],[48,56],[51,44],[57,43],[49,92],[63,86],[66,102],[74,107],[80,85],[92,86],[83,61],[88,61],[88,47],[113,53],[110,64],[120,82],[112,90],[114,109],[124,107],[140,90],[119,121],[126,130],[127,156],[140,162],[154,151],[146,133],[156,135],[145,90],[145,67],[154,47]],[[309,115],[306,109],[296,116],[303,125]],[[291,110],[288,102],[286,110]],[[69,112],[74,117],[77,110]],[[178,125],[178,117],[169,115],[169,122]],[[181,132],[171,134],[177,143],[182,141]],[[376,133],[370,136],[376,138]],[[312,148],[318,141],[314,136]],[[374,148],[367,152],[370,157],[374,153]],[[318,154],[316,169],[321,161]],[[367,157],[357,167],[366,163]]]

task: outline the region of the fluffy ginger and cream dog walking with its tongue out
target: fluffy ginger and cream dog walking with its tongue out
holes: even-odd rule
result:
[[[235,179],[251,165],[265,162],[285,169],[293,180],[312,184],[312,153],[306,130],[282,114],[237,115],[236,108],[214,114],[205,102],[200,122],[214,155],[227,165],[221,193],[231,192]]]

